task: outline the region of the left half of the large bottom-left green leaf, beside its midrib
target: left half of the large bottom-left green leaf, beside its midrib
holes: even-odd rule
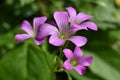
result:
[[[0,61],[0,80],[23,80],[26,71],[25,52],[20,47],[7,53]]]

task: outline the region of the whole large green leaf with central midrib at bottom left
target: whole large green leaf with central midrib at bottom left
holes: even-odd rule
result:
[[[35,45],[24,45],[0,61],[0,80],[54,80],[45,53]]]

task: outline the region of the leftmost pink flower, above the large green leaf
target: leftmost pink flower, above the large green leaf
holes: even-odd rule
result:
[[[38,35],[38,29],[39,27],[44,24],[44,22],[47,20],[47,17],[36,17],[33,20],[33,27],[30,25],[30,23],[27,20],[24,20],[20,26],[20,29],[26,32],[26,34],[17,34],[15,36],[15,39],[17,42],[21,42],[23,40],[26,40],[28,38],[35,38]],[[37,40],[34,39],[35,44],[40,45],[43,43],[43,40]]]

